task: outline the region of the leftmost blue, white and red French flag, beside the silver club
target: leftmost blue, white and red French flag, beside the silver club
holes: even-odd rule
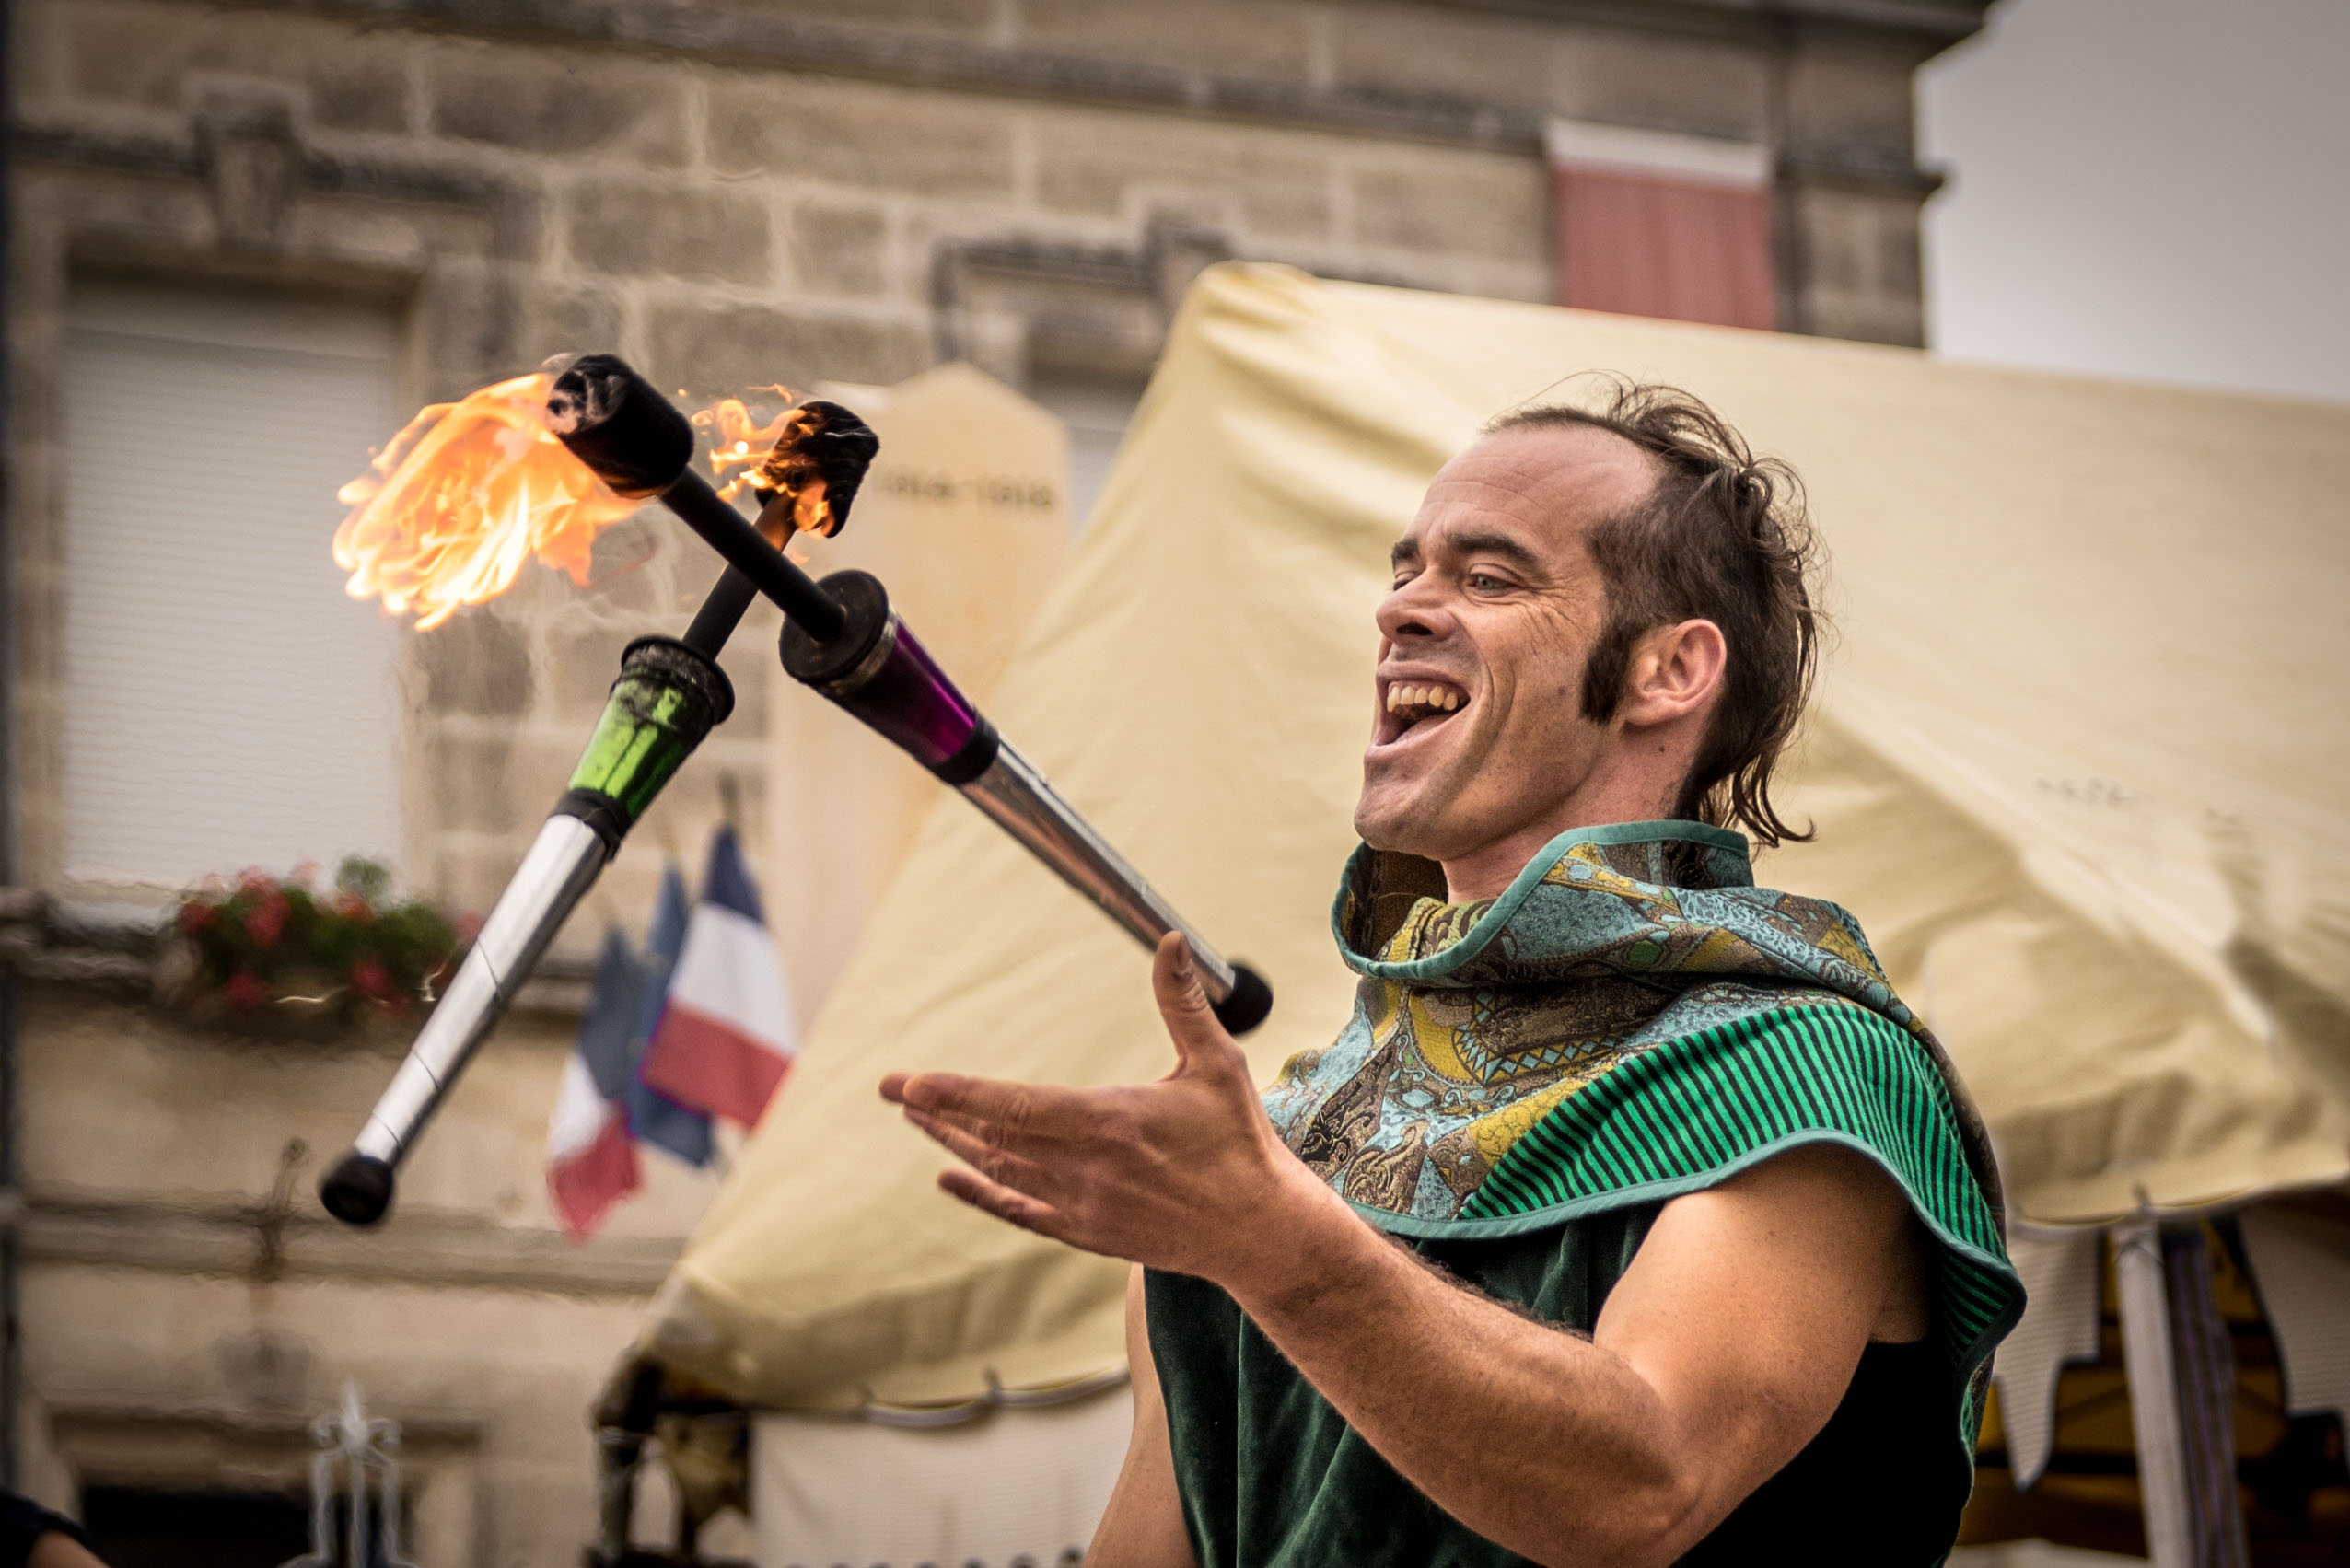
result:
[[[613,1204],[637,1190],[637,1143],[627,1135],[627,1088],[644,973],[627,936],[604,931],[604,952],[588,985],[578,1044],[548,1121],[548,1197],[573,1241],[585,1241]]]

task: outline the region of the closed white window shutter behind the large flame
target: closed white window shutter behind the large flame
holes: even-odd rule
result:
[[[87,287],[66,320],[68,882],[395,856],[400,628],[329,555],[402,418],[390,315]]]

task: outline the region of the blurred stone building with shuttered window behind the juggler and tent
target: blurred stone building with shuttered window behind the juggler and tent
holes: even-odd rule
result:
[[[0,1472],[118,1563],[275,1563],[355,1380],[404,1427],[416,1556],[503,1568],[578,1559],[588,1403],[712,1185],[663,1168],[585,1246],[550,1218],[595,933],[350,1234],[313,1185],[404,1030],[190,1020],[153,929],[207,875],[345,853],[486,907],[618,649],[714,562],[646,517],[585,588],[533,567],[409,632],[327,557],[369,447],[559,350],[693,397],[964,360],[1062,421],[1081,527],[1231,256],[1915,346],[1913,75],[1983,2],[9,12]],[[726,813],[785,879],[773,632],[595,914],[642,919]]]

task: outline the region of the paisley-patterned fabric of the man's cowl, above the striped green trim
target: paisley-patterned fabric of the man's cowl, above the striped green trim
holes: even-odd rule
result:
[[[1626,1060],[1821,1006],[1864,1009],[1913,1041],[1995,1213],[1988,1143],[1859,924],[1753,886],[1739,835],[1567,832],[1499,898],[1459,905],[1434,896],[1431,872],[1356,851],[1332,910],[1361,976],[1354,1018],[1264,1093],[1297,1157],[1375,1222],[1473,1220],[1511,1150]]]

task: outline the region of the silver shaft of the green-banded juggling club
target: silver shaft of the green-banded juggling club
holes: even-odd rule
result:
[[[352,1145],[360,1154],[400,1164],[602,870],[604,839],[576,816],[550,816],[367,1117]]]

